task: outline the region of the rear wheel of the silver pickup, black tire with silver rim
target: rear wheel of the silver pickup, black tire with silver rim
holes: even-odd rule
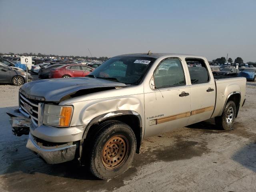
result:
[[[234,120],[236,119],[236,104],[234,101],[228,101],[221,116],[215,117],[216,125],[226,131],[232,130]]]

